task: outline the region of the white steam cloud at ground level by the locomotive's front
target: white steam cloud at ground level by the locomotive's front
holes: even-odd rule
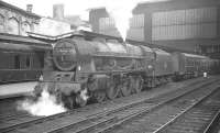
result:
[[[24,100],[19,103],[19,109],[30,112],[33,115],[53,115],[66,111],[63,104],[56,103],[56,98],[45,89],[37,101]]]

